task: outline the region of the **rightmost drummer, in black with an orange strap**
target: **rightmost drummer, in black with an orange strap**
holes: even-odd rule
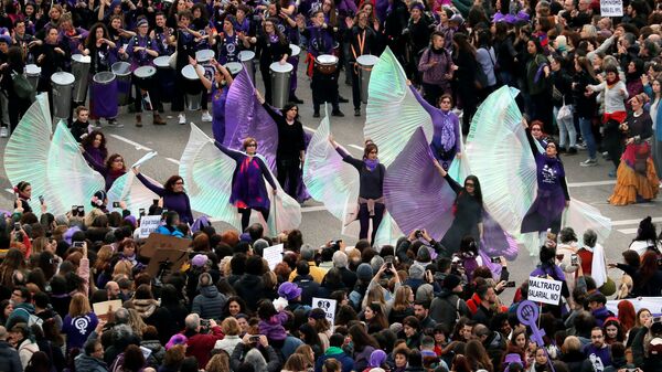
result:
[[[350,43],[350,65],[352,66],[352,102],[354,104],[354,116],[361,116],[361,82],[359,79],[359,68],[356,59],[360,55],[376,53],[378,46],[380,23],[374,21],[373,25],[367,24],[369,14],[360,11],[356,19],[350,17],[345,19],[348,31],[345,39]]]

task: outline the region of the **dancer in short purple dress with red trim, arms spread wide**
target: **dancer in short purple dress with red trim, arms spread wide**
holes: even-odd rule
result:
[[[218,141],[214,141],[214,145],[237,163],[232,174],[229,202],[242,214],[242,231],[248,227],[250,210],[260,212],[265,221],[268,221],[270,201],[264,181],[265,178],[274,189],[274,194],[277,193],[277,187],[267,164],[259,157],[255,156],[257,153],[257,141],[255,138],[248,137],[244,139],[245,153],[232,150]]]

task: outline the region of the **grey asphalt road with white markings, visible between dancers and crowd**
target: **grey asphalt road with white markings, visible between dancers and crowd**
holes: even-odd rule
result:
[[[299,87],[297,95],[305,100],[303,105],[299,105],[299,114],[301,121],[307,127],[307,130],[314,130],[319,126],[320,119],[312,118],[312,100],[311,91],[308,77],[303,75],[303,64],[299,65],[298,77]],[[259,74],[259,73],[258,73]],[[258,85],[261,86],[261,79],[257,78]],[[354,156],[361,156],[363,142],[363,124],[365,120],[365,107],[362,107],[362,116],[353,116],[353,107],[351,104],[351,88],[344,84],[344,74],[341,74],[341,95],[350,99],[349,104],[341,104],[341,110],[346,115],[343,118],[332,117],[332,128],[334,139],[348,148]],[[166,105],[168,109],[169,105]],[[166,113],[163,118],[167,118],[167,126],[152,126],[151,118],[143,115],[142,128],[135,126],[132,114],[120,115],[118,118],[125,126],[104,127],[103,130],[107,134],[108,149],[110,153],[118,152],[125,157],[127,163],[132,163],[142,157],[147,151],[156,150],[159,152],[158,158],[143,164],[142,172],[151,178],[164,182],[168,177],[178,172],[179,159],[182,155],[186,140],[189,138],[190,126],[179,125],[177,116],[169,116]],[[195,123],[207,135],[211,135],[211,124],[201,121],[200,113],[188,113],[188,121]],[[7,139],[0,139],[0,151],[4,153]],[[2,156],[3,157],[3,156]],[[583,168],[579,162],[586,158],[585,151],[579,151],[577,156],[564,157],[564,164],[570,194],[573,198],[589,203],[600,212],[610,217],[613,223],[611,236],[605,242],[607,258],[609,262],[620,258],[620,253],[626,249],[629,243],[634,237],[639,221],[647,215],[651,215],[654,222],[660,225],[662,222],[662,203],[655,201],[652,203],[637,204],[629,206],[612,206],[607,203],[607,198],[611,194],[615,179],[608,178],[610,162],[600,159],[597,167]],[[1,162],[2,160],[0,160]],[[28,164],[26,164],[28,166]],[[0,208],[10,210],[12,194],[7,189],[10,189],[10,182],[4,173],[4,167],[0,174]],[[331,238],[340,238],[340,226],[338,221],[332,217],[321,203],[309,200],[302,208],[303,217],[300,230],[303,232],[306,243],[313,246],[319,246]],[[223,227],[222,223],[215,223],[216,228]],[[581,232],[578,232],[579,236]],[[342,236],[348,244],[353,244],[355,238]],[[525,280],[528,273],[533,269],[535,259],[530,257],[527,252],[521,249],[520,256],[513,263],[509,263],[509,268],[512,273],[511,280],[520,284]],[[611,269],[609,276],[617,283],[621,273],[617,269]],[[503,299],[510,302],[512,291],[506,291]]]

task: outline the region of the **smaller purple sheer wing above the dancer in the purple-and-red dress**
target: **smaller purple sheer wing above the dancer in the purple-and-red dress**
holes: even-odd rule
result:
[[[257,140],[258,153],[267,159],[269,169],[275,171],[278,128],[255,97],[255,86],[248,73],[242,70],[227,92],[223,145],[243,151],[242,142],[247,137]]]

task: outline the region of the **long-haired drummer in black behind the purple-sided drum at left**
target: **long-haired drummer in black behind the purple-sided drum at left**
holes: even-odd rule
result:
[[[113,52],[117,49],[117,44],[109,40],[108,30],[104,23],[97,22],[90,28],[89,35],[85,42],[84,55],[89,55],[89,75],[94,76],[104,71],[110,71]],[[92,92],[92,89],[90,89]],[[117,95],[117,92],[108,92]],[[99,110],[105,105],[99,105],[99,99],[105,96],[89,96],[89,116],[95,120],[95,126],[100,127],[99,118],[106,118],[108,125],[117,125],[117,110],[104,113]]]

